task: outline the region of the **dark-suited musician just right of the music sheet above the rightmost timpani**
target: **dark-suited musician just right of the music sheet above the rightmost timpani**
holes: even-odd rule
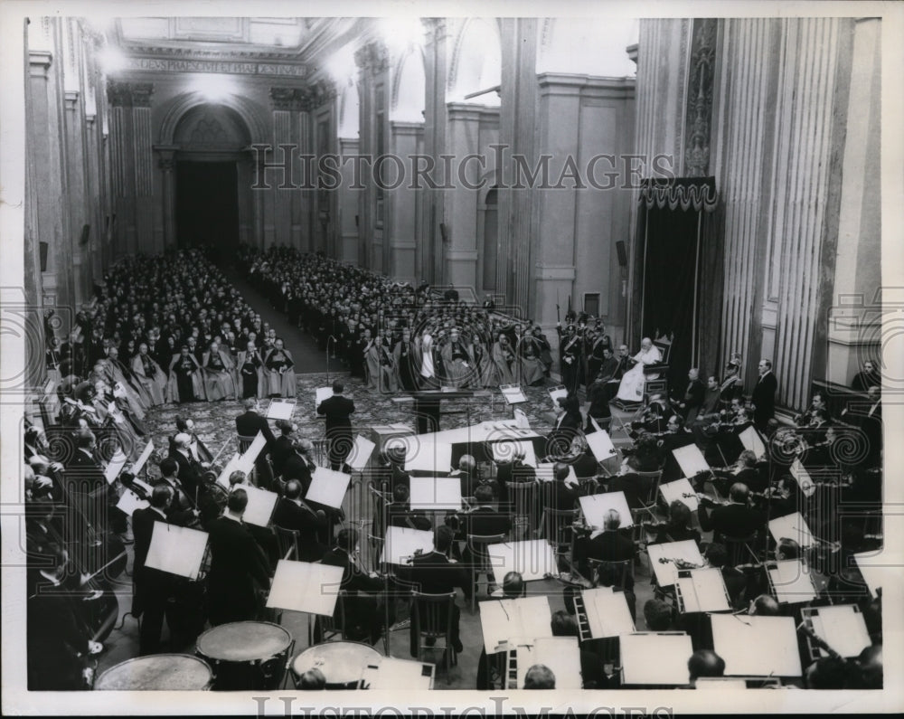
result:
[[[376,644],[385,623],[381,603],[385,598],[374,595],[383,591],[383,581],[375,572],[364,571],[358,561],[358,551],[358,532],[343,529],[336,546],[325,553],[321,563],[343,568],[340,586],[346,592],[344,639],[367,639]],[[336,611],[339,611],[338,603]]]

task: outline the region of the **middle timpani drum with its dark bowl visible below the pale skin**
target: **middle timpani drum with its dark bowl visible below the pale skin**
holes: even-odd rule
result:
[[[293,645],[278,624],[234,621],[205,631],[197,653],[213,669],[214,690],[278,689]]]

